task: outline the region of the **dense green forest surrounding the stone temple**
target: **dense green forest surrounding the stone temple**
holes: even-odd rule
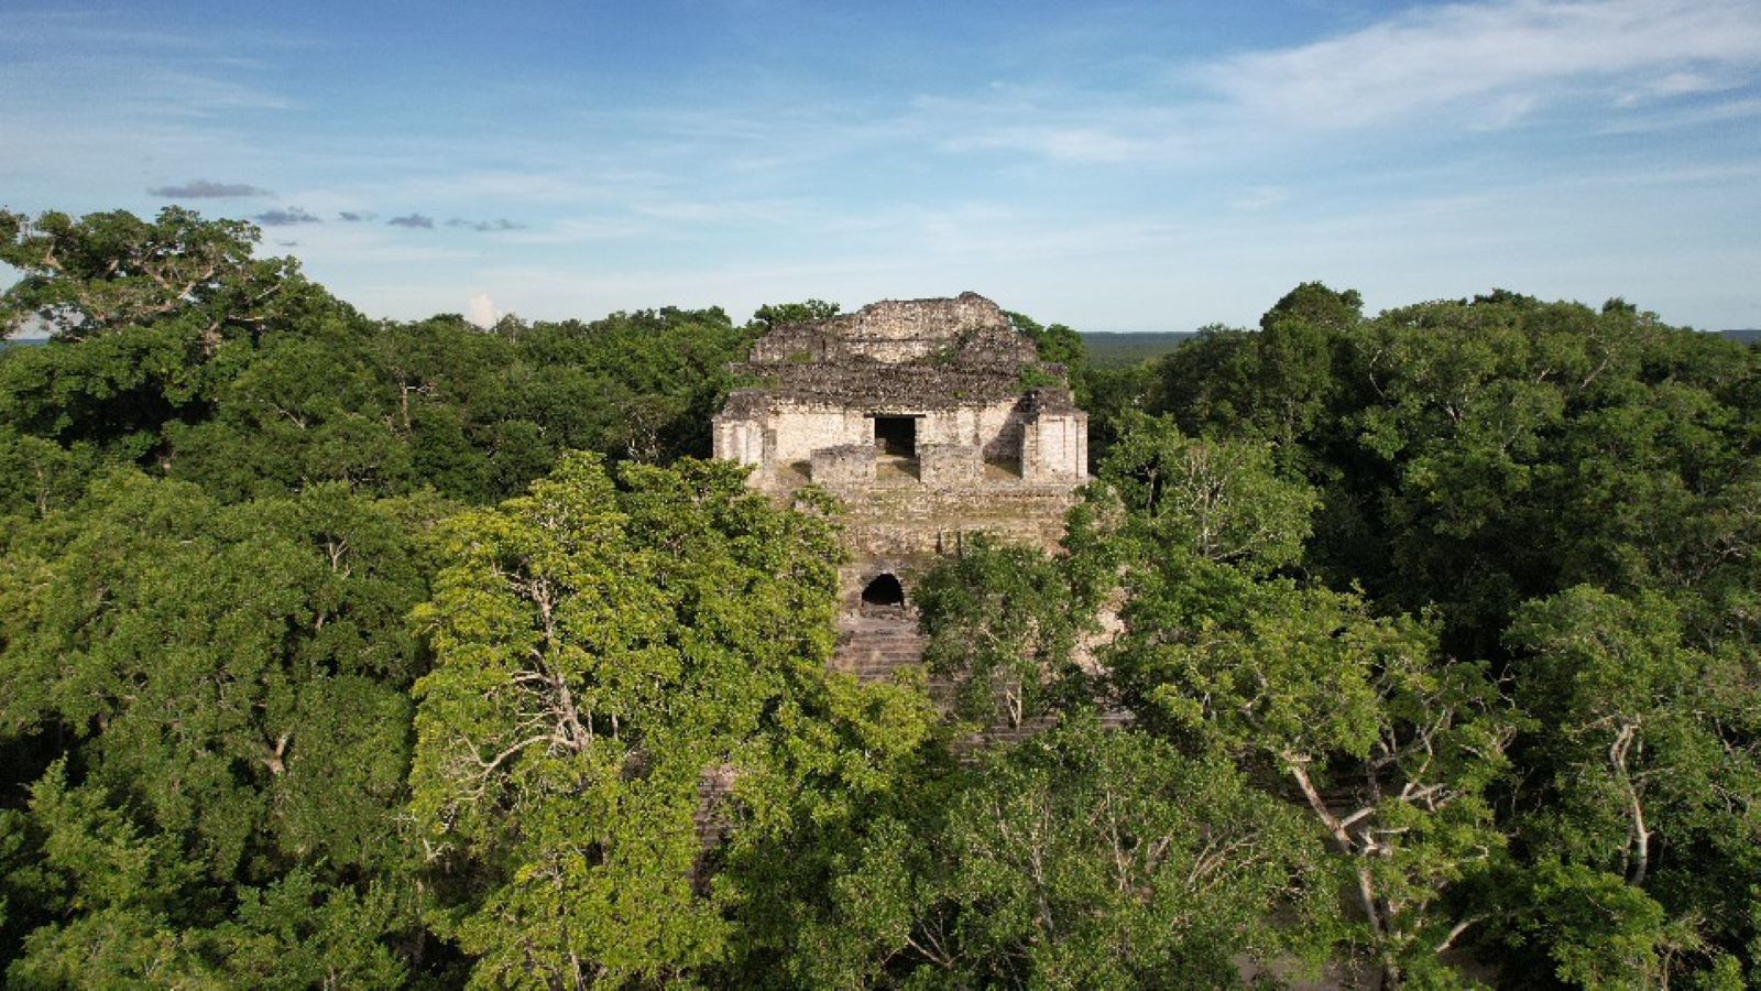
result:
[[[7,986],[1761,986],[1761,349],[1018,317],[1097,481],[865,686],[836,504],[704,460],[835,307],[373,321],[255,242],[0,213]]]

